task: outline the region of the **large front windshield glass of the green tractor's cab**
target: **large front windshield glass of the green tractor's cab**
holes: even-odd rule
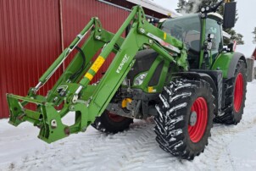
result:
[[[184,42],[187,50],[200,52],[201,23],[198,14],[168,19],[161,30]]]

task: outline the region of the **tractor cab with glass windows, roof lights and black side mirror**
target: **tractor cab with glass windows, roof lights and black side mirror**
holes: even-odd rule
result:
[[[175,19],[165,19],[160,29],[184,42],[190,69],[210,69],[223,51],[223,28],[235,25],[236,5],[226,3],[224,18],[214,7],[203,7],[198,14],[187,14]]]

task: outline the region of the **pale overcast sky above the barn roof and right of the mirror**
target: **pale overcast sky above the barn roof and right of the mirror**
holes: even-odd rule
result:
[[[164,8],[177,8],[178,0],[152,0]],[[241,33],[243,41],[242,46],[237,46],[237,51],[242,52],[245,56],[252,55],[256,44],[253,44],[253,28],[256,27],[256,1],[255,0],[237,0],[238,17],[235,30]]]

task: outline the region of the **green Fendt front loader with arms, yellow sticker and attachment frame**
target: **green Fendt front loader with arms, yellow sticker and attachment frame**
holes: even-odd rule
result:
[[[129,24],[131,24],[131,30],[128,36],[122,38],[122,33]],[[48,91],[47,97],[36,95],[70,52],[86,37],[87,32],[91,33],[82,45],[81,52],[75,55],[53,89]],[[66,48],[42,75],[39,83],[30,89],[27,97],[7,95],[9,123],[17,126],[25,121],[31,122],[40,128],[38,137],[47,143],[85,131],[88,125],[92,124],[95,118],[107,108],[135,63],[136,52],[144,46],[152,48],[162,58],[175,63],[182,70],[187,70],[185,45],[149,24],[142,7],[132,8],[131,14],[116,34],[104,30],[100,21],[92,18],[70,47]],[[102,51],[92,63],[92,58],[100,50]],[[92,78],[109,57],[110,52],[114,52],[115,56],[109,69],[97,85],[90,85]],[[82,58],[83,56],[86,57],[86,61]],[[84,64],[81,65],[81,63]],[[26,108],[29,103],[36,104],[35,111]],[[56,108],[61,104],[63,108],[58,111]],[[62,118],[70,112],[75,113],[75,124],[69,126],[63,124]]]

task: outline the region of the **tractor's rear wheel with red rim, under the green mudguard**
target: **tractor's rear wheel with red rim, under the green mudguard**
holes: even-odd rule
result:
[[[246,99],[246,86],[246,63],[243,60],[239,60],[234,77],[225,81],[225,107],[223,108],[223,114],[216,116],[214,122],[238,124],[241,121]]]

